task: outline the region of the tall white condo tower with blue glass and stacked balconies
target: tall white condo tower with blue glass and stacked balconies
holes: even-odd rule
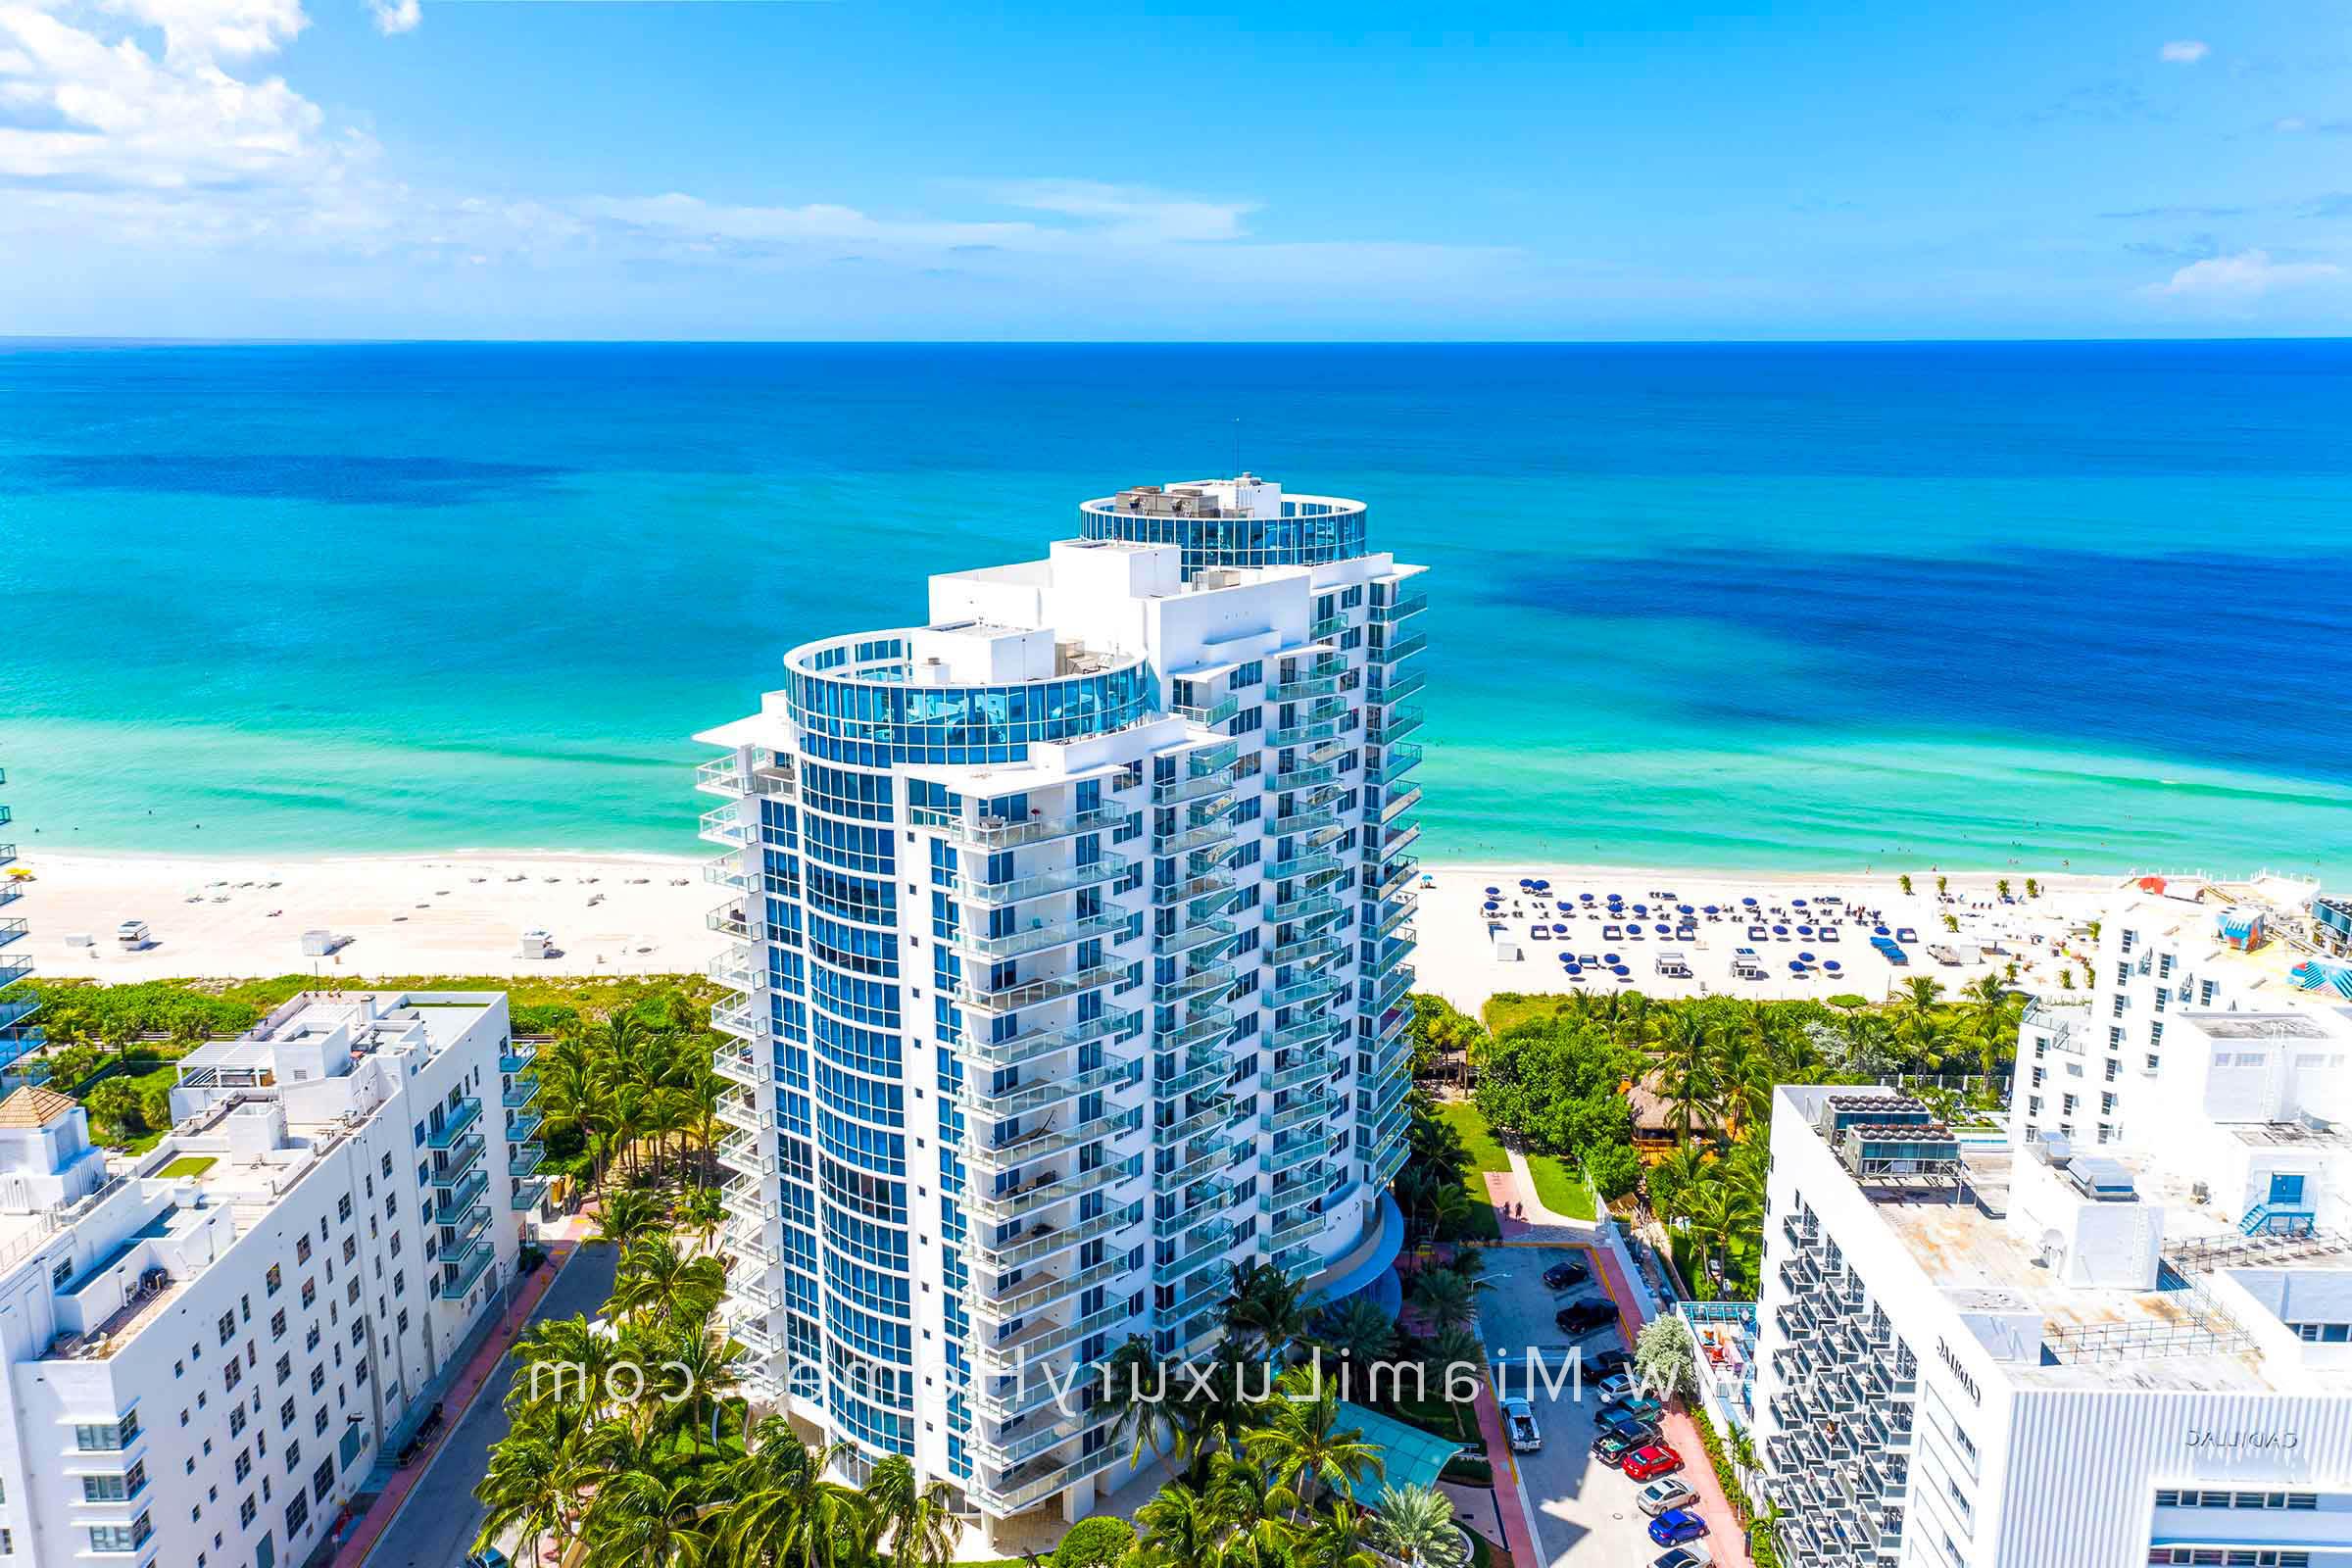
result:
[[[1251,475],[1080,531],[701,736],[748,1387],[988,1519],[1127,1479],[1084,1375],[1228,1265],[1399,1246],[1421,569]]]

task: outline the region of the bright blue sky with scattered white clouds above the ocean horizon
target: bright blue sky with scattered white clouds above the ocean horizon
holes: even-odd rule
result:
[[[2352,322],[2340,5],[1437,14],[9,0],[0,334]]]

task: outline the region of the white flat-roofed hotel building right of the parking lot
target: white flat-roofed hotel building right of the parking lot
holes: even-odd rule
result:
[[[1778,1091],[1755,1446],[1792,1561],[2352,1563],[2352,976],[2307,903],[2119,896],[2006,1140]]]

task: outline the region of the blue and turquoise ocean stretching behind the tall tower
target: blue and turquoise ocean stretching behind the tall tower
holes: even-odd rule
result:
[[[1435,569],[1430,853],[2352,870],[2352,346],[0,350],[28,846],[694,846],[687,733],[1127,482]]]

